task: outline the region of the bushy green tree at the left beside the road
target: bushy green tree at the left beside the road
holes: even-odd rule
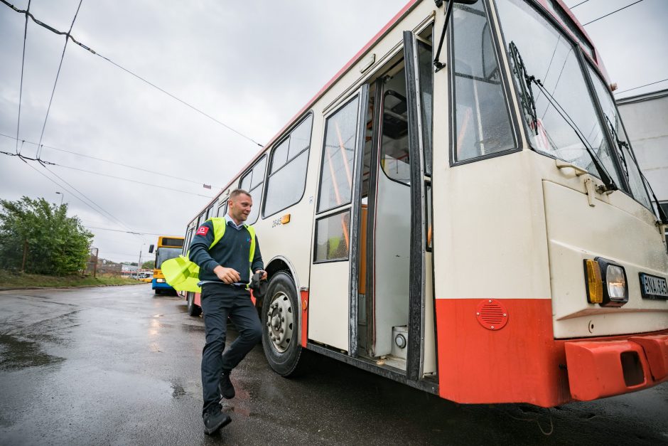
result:
[[[93,235],[68,205],[24,196],[0,200],[0,267],[26,272],[67,275],[83,270]]]

